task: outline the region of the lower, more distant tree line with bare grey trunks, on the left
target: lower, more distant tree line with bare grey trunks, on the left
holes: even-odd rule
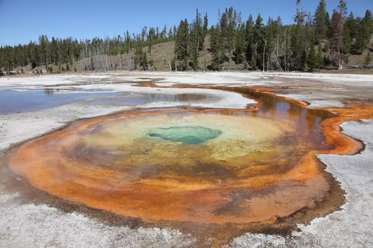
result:
[[[167,30],[166,25],[163,30],[159,27],[147,29],[144,26],[141,33],[131,34],[127,30],[123,36],[115,35],[110,38],[107,35],[104,39],[95,37],[92,40],[80,39],[79,41],[71,36],[65,39],[52,37],[50,40],[46,35],[41,35],[37,42],[1,46],[0,68],[4,68],[4,71],[9,73],[14,67],[29,65],[30,69],[34,69],[40,65],[46,65],[47,71],[57,72],[56,68],[59,68],[57,65],[68,63],[72,66],[79,61],[82,70],[85,71],[117,70],[119,65],[110,59],[110,55],[119,56],[129,53],[130,47],[137,49],[137,47],[173,41],[177,31],[176,26]],[[52,69],[50,69],[51,65],[54,65]],[[70,70],[70,67],[68,68]]]

